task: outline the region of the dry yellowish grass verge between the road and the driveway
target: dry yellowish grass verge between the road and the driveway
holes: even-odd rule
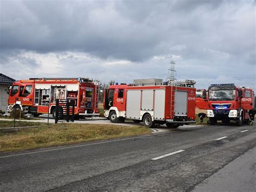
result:
[[[142,126],[57,124],[17,132],[0,132],[0,152],[68,145],[151,133]]]

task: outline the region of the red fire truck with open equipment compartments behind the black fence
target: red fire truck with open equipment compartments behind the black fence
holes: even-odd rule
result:
[[[72,99],[75,100],[76,118],[98,116],[98,95],[99,86],[87,78],[18,80],[9,90],[8,111],[18,107],[34,116],[49,112],[55,118],[56,99]]]

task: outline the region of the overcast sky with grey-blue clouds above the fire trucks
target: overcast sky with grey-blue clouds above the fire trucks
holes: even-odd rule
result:
[[[131,83],[168,76],[256,91],[252,0],[0,0],[0,73]]]

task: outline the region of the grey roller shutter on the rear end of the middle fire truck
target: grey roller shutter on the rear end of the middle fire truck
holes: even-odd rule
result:
[[[176,116],[186,116],[187,114],[187,92],[176,91],[174,114]]]

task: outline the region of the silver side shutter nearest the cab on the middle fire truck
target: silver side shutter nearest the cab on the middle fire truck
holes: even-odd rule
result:
[[[140,118],[140,90],[127,90],[126,94],[126,117],[131,119]]]

